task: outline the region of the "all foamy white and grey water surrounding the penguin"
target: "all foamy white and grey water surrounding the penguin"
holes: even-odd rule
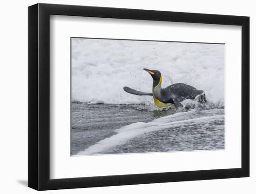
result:
[[[224,149],[225,45],[72,38],[72,155]],[[184,109],[158,109],[152,92],[185,83],[209,103],[184,100]]]

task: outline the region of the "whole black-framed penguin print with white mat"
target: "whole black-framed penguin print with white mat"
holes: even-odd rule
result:
[[[249,176],[249,17],[28,7],[28,186]]]

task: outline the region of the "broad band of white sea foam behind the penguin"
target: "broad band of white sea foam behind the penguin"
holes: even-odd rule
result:
[[[126,93],[124,86],[152,92],[143,68],[162,73],[162,87],[186,83],[224,103],[224,45],[156,41],[72,39],[72,100],[106,104],[150,104],[152,96]]]

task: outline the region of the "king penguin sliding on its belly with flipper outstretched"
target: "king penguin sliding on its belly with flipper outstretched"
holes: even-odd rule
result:
[[[153,96],[155,105],[160,108],[168,107],[172,104],[174,104],[176,109],[181,108],[183,107],[181,101],[186,99],[197,100],[200,103],[207,102],[203,90],[198,90],[184,83],[175,83],[166,88],[162,88],[162,75],[160,71],[144,70],[153,78],[152,93],[140,92],[130,87],[124,87],[124,91],[140,96]]]

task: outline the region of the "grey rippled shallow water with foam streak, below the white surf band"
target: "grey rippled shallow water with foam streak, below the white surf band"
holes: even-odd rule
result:
[[[192,106],[192,107],[191,107]],[[72,103],[72,155],[224,149],[224,108]]]

